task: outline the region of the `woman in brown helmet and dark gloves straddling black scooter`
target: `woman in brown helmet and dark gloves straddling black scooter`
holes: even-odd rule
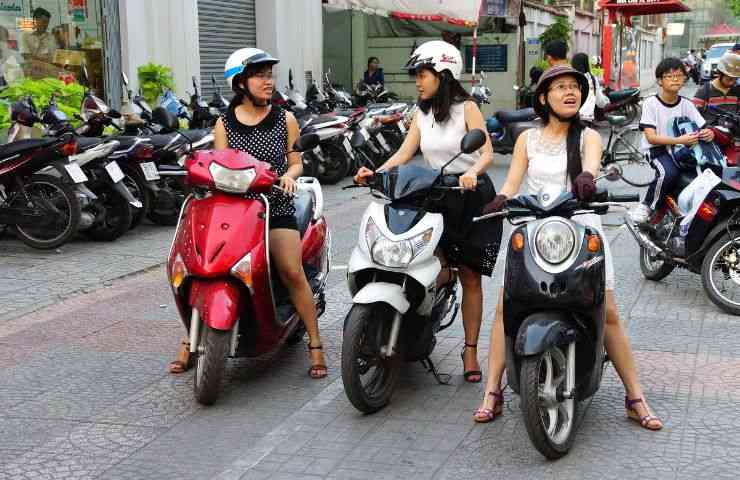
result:
[[[557,65],[545,71],[535,93],[535,110],[544,126],[527,130],[519,136],[506,182],[501,187],[501,193],[484,209],[486,213],[502,210],[506,200],[518,192],[536,195],[544,187],[572,189],[581,201],[588,201],[596,192],[594,175],[598,173],[601,163],[601,136],[590,128],[584,128],[578,115],[588,95],[588,81],[570,65]],[[520,190],[520,187],[523,188]],[[602,238],[606,239],[598,215],[579,215],[572,220],[598,229]],[[619,321],[614,300],[614,265],[609,243],[604,242],[603,245],[606,262],[606,351],[624,384],[628,417],[645,429],[660,430],[663,423],[651,413],[645,401],[629,340]],[[503,411],[501,375],[506,362],[503,298],[504,289],[501,288],[491,332],[486,390],[483,402],[473,417],[479,423],[490,422]]]

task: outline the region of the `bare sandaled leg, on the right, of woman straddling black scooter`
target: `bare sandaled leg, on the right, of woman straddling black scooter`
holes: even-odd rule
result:
[[[622,323],[619,321],[619,311],[617,310],[617,305],[614,301],[614,292],[611,290],[607,290],[606,292],[606,327],[604,329],[604,345],[606,347],[606,352],[614,365],[614,369],[617,371],[619,378],[622,379],[627,398],[645,399],[642,387],[640,386],[640,379],[637,376],[637,368],[635,367],[635,358],[632,354],[632,348],[630,347],[627,335],[624,333]],[[636,403],[634,405],[634,409],[641,417],[651,414],[646,400],[642,403]],[[648,424],[651,427],[657,427],[658,425],[662,426],[660,420],[657,419],[651,420]]]

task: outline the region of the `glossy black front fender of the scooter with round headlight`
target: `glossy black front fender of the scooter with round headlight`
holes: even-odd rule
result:
[[[528,316],[519,327],[514,352],[520,356],[536,355],[553,346],[567,345],[578,340],[572,317],[563,312],[537,312]]]

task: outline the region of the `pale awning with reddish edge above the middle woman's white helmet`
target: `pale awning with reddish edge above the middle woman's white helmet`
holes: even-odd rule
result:
[[[465,26],[477,25],[481,9],[481,0],[324,0],[324,3],[339,10]]]

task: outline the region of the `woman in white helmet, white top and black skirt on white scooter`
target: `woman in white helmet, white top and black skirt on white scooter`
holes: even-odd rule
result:
[[[419,109],[403,145],[378,171],[408,163],[419,149],[428,166],[440,168],[459,153],[460,140],[468,131],[486,131],[483,114],[459,82],[462,56],[457,48],[443,41],[424,43],[414,51],[407,68],[416,77]],[[492,161],[489,139],[478,152],[460,155],[445,169],[445,173],[460,175],[460,186],[466,190],[464,195],[450,196],[441,246],[443,263],[459,266],[465,329],[461,357],[464,378],[472,383],[482,378],[477,354],[483,315],[481,275],[493,272],[501,241],[500,221],[472,223],[472,217],[496,194],[486,174]],[[364,183],[372,175],[371,170],[361,168],[355,181]],[[481,185],[476,187],[479,179]]]

